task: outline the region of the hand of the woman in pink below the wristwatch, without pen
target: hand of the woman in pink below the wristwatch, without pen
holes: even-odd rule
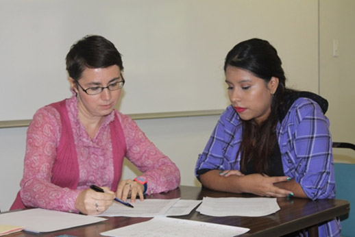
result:
[[[135,182],[132,179],[125,179],[119,182],[119,186],[117,187],[116,197],[122,199],[123,201],[127,201],[127,198],[131,198],[131,202],[134,203],[136,201],[137,195],[139,196],[140,201],[144,200],[144,186],[138,182]]]

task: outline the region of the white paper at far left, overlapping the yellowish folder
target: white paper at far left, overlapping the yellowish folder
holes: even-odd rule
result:
[[[101,217],[86,216],[69,212],[58,212],[40,208],[0,214],[0,223],[21,225],[28,232],[54,232],[60,229],[77,227],[105,221]]]

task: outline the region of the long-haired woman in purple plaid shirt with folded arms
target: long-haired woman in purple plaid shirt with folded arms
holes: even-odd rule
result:
[[[231,105],[197,160],[201,184],[263,197],[333,199],[328,101],[286,88],[282,62],[266,40],[235,45],[224,72]],[[319,236],[339,236],[339,224],[323,223]]]

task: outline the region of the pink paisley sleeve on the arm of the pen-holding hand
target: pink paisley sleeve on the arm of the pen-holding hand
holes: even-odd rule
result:
[[[29,207],[76,212],[79,191],[51,184],[60,131],[60,114],[54,108],[47,106],[34,114],[27,129],[21,199]]]

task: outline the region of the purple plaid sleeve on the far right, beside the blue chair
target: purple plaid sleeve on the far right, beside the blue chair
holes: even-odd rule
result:
[[[332,139],[328,118],[309,99],[298,106],[293,146],[296,155],[295,180],[310,199],[334,198],[335,181]]]

